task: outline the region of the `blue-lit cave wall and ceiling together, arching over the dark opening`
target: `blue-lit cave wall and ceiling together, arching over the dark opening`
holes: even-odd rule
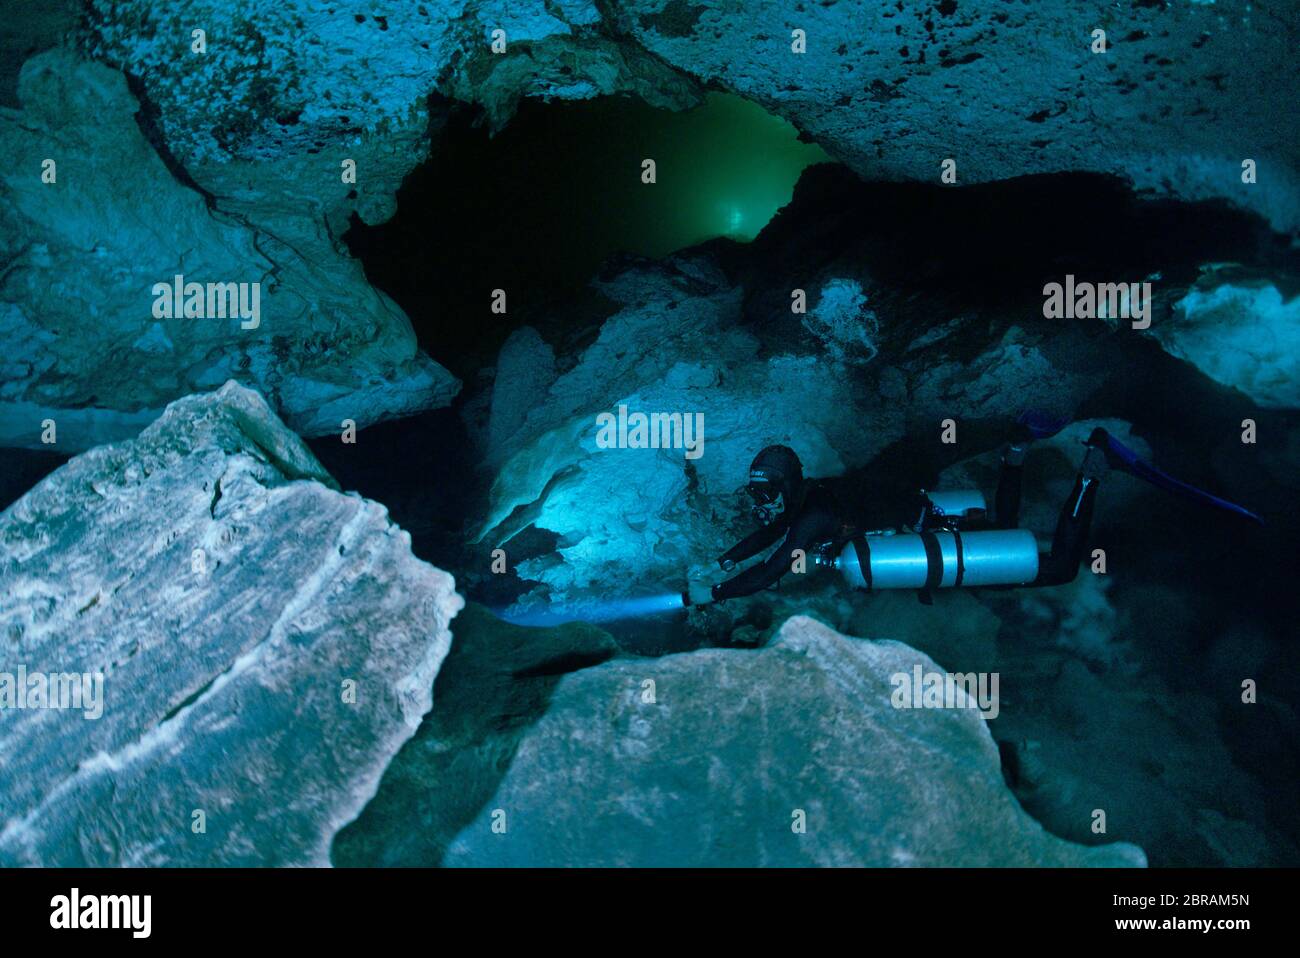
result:
[[[22,108],[0,113],[18,157],[0,181],[0,443],[34,445],[47,416],[68,448],[121,438],[229,377],[304,434],[450,402],[459,383],[341,235],[391,216],[451,101],[498,129],[525,96],[686,108],[725,88],[872,179],[936,182],[946,159],[958,183],[1097,170],[1294,233],[1295,38],[1287,12],[1243,3],[90,0],[75,56],[30,60]],[[147,286],[196,268],[266,281],[273,315],[252,334],[157,326]]]

